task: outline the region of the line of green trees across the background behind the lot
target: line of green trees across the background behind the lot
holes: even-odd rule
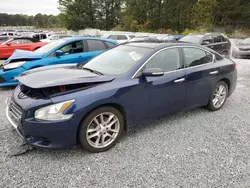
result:
[[[249,0],[59,0],[58,16],[0,14],[0,26],[183,32],[250,29]]]

